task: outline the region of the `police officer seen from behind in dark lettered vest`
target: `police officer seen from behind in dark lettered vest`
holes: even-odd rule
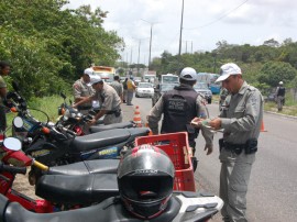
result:
[[[198,130],[191,125],[191,120],[196,116],[207,118],[206,107],[201,103],[202,98],[194,90],[196,84],[196,70],[186,67],[182,70],[178,87],[165,92],[152,108],[147,115],[148,126],[153,134],[158,133],[158,121],[163,116],[161,133],[188,132],[189,145],[195,155],[196,137]],[[212,152],[213,135],[207,129],[202,129],[206,140],[207,154]]]

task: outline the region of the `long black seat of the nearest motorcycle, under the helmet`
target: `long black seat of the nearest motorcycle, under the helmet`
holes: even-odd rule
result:
[[[0,202],[1,203],[1,202]],[[175,198],[170,198],[167,209],[157,218],[150,221],[163,222],[173,221],[178,215],[180,209],[180,202]],[[8,204],[7,210],[1,217],[4,221],[13,222],[33,222],[33,221],[52,221],[55,222],[101,222],[101,221],[129,221],[129,222],[142,222],[143,220],[133,217],[129,213],[123,204],[120,204],[119,197],[109,198],[98,204],[87,208],[75,209],[70,211],[59,211],[54,213],[34,213],[25,210],[20,203],[11,202]],[[186,220],[185,220],[186,221]]]

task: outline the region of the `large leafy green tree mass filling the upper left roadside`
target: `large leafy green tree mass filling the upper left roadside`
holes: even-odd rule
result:
[[[91,63],[114,65],[123,40],[102,29],[108,12],[89,5],[63,10],[66,0],[0,2],[1,58],[23,95],[43,97],[70,89]],[[30,86],[30,87],[28,87]]]

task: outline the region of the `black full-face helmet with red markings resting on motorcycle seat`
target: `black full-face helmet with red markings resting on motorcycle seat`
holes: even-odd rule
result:
[[[158,147],[145,144],[128,151],[118,168],[120,197],[127,210],[141,219],[160,215],[172,197],[174,175],[170,158]]]

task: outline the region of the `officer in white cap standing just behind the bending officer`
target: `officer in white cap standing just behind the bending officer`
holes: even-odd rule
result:
[[[90,76],[94,74],[92,68],[87,68],[80,79],[76,80],[73,86],[75,103],[88,98],[95,93],[90,85]],[[92,101],[78,106],[77,109],[82,114],[88,114],[92,108]]]

